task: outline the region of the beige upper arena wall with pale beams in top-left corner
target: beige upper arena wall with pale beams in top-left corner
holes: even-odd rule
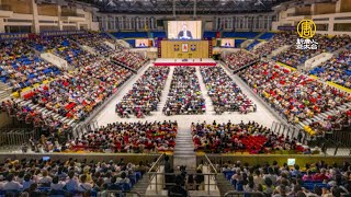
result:
[[[0,3],[0,33],[99,31],[99,23],[92,21],[93,8],[83,10],[57,4],[36,4],[35,0],[2,0]]]

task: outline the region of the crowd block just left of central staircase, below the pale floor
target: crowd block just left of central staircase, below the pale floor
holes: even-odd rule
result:
[[[64,150],[91,152],[173,151],[177,121],[114,123],[68,141]]]

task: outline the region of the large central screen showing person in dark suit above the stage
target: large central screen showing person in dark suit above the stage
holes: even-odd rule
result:
[[[201,21],[168,21],[169,39],[201,39]]]

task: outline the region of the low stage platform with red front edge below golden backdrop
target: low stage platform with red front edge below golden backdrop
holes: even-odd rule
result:
[[[158,58],[155,66],[170,67],[170,66],[183,66],[183,67],[214,67],[216,61],[211,58],[190,58],[190,59],[173,59],[173,58]]]

